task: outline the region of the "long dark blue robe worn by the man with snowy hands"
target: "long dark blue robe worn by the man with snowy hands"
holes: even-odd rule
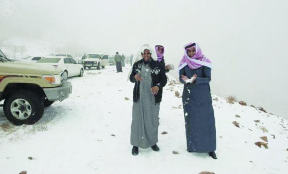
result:
[[[189,79],[197,74],[195,82],[186,84],[181,75]],[[192,70],[185,66],[180,70],[180,82],[184,83],[183,109],[186,128],[187,150],[211,152],[216,150],[216,129],[209,82],[211,69],[202,66]]]

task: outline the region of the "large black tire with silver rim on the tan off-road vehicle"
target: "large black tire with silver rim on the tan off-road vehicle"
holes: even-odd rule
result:
[[[34,124],[44,112],[41,98],[29,90],[19,90],[5,99],[4,113],[14,125]]]

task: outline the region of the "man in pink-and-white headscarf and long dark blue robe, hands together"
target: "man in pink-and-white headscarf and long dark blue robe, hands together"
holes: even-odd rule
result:
[[[205,152],[217,159],[215,118],[210,94],[212,64],[197,43],[184,46],[179,79],[184,84],[182,102],[188,152]]]

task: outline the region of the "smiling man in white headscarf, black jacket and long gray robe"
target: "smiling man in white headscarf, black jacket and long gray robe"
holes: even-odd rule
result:
[[[164,66],[157,61],[154,49],[148,44],[135,56],[129,80],[135,83],[130,137],[132,154],[138,155],[139,147],[159,151],[159,110],[167,77]]]

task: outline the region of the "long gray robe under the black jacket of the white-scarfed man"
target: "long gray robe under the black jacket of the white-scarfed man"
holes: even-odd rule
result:
[[[143,63],[141,77],[139,99],[133,102],[130,141],[131,145],[146,149],[158,142],[160,103],[155,104],[155,97],[151,92],[149,64]]]

